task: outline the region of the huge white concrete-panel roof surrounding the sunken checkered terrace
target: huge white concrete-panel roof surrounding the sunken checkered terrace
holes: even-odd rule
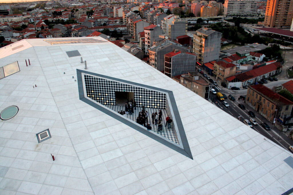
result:
[[[282,194],[293,187],[284,162],[292,153],[115,44],[28,39],[10,48],[21,44],[0,49],[2,65],[20,66],[0,80],[1,111],[19,107],[0,121],[0,194]],[[69,58],[71,50],[81,56]],[[193,160],[79,100],[80,57],[89,72],[173,91]],[[52,138],[38,143],[36,133],[47,128]]]

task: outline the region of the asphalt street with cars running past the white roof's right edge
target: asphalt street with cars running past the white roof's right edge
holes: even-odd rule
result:
[[[219,92],[222,92],[222,90],[220,90]],[[224,93],[224,92],[223,92]],[[222,101],[219,101],[216,97],[215,94],[211,95],[214,99],[213,103],[218,106],[219,108],[221,108],[222,110],[224,110],[226,113],[229,113],[230,115],[232,115],[233,117],[235,117],[236,119],[239,119],[240,116],[240,121],[243,122],[244,119],[250,119],[251,116],[248,115],[248,111],[253,111],[250,107],[248,107],[243,100],[238,101],[236,99],[236,101],[231,101],[229,99],[225,99],[226,102],[229,103],[229,107],[226,108],[223,105]],[[228,94],[226,94],[226,96],[228,96]],[[217,103],[216,103],[217,102]],[[245,105],[245,110],[242,110],[241,108],[239,108],[238,104],[241,103],[243,105]],[[281,147],[285,148],[288,150],[289,146],[293,145],[293,140],[289,139],[284,133],[278,131],[276,128],[274,128],[273,130],[265,130],[260,124],[262,122],[266,122],[272,129],[272,124],[270,124],[266,119],[264,119],[263,117],[260,117],[260,115],[257,115],[255,113],[256,117],[254,118],[259,125],[254,125],[252,127],[253,130],[259,132],[260,134],[262,134],[263,136],[265,136],[267,139],[270,139],[271,141],[275,142],[276,144],[280,145]],[[280,137],[279,137],[279,133],[280,133]]]

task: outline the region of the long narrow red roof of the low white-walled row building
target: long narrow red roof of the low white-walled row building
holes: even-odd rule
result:
[[[245,73],[241,73],[239,75],[235,75],[237,79],[240,81],[246,81],[252,78],[255,78],[260,75],[264,75],[266,73],[272,72],[273,70],[277,70],[277,68],[282,67],[280,62],[271,63],[265,66],[261,66],[259,68],[255,68],[253,70],[249,70]]]

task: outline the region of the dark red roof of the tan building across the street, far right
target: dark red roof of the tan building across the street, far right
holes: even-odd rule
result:
[[[293,104],[292,101],[288,100],[287,98],[281,96],[278,93],[275,93],[272,91],[272,89],[262,85],[262,84],[257,84],[257,85],[251,85],[249,86],[253,89],[255,89],[256,91],[262,93],[264,96],[266,96],[267,98],[274,100],[275,102],[279,103],[279,105],[288,105],[288,104]]]

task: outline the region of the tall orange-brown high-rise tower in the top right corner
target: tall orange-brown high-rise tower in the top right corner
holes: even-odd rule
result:
[[[268,0],[265,10],[266,27],[290,28],[293,17],[293,1]]]

